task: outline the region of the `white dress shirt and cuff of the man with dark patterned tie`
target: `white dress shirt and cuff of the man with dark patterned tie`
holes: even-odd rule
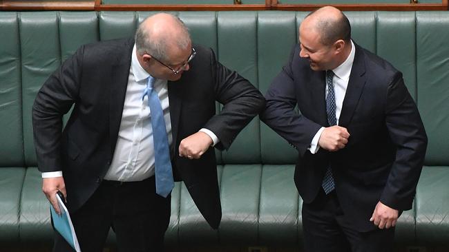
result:
[[[341,108],[343,107],[343,100],[345,99],[347,83],[350,81],[350,75],[352,70],[352,63],[354,63],[354,56],[356,55],[356,48],[354,47],[354,42],[351,40],[351,52],[350,55],[347,56],[345,62],[338,65],[338,67],[334,68],[332,72],[334,72],[334,77],[332,78],[332,82],[334,83],[334,91],[335,91],[335,116],[337,119],[340,118]],[[325,98],[327,98],[327,92],[329,92],[329,88],[326,85]],[[309,151],[312,154],[316,154],[320,146],[318,145],[318,140],[320,140],[321,134],[325,127],[321,127],[321,129],[316,132],[314,138],[312,138],[312,143],[310,143]]]

